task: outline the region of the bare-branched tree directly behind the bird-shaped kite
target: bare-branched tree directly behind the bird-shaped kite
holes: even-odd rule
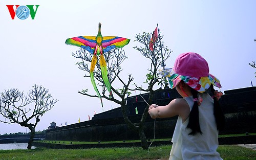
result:
[[[158,83],[158,85],[164,85],[166,87],[166,82],[162,77],[159,77],[159,74],[157,73],[157,70],[160,66],[164,66],[164,61],[169,57],[170,51],[167,48],[164,48],[163,43],[161,43],[161,39],[162,36],[160,35],[160,32],[158,31],[159,36],[158,38],[155,40],[154,43],[154,50],[151,51],[148,46],[150,44],[150,40],[151,40],[151,35],[150,33],[143,33],[142,35],[136,35],[136,41],[140,42],[141,44],[143,44],[143,48],[142,47],[134,47],[137,51],[139,51],[145,58],[148,58],[151,60],[152,64],[151,64],[151,68],[148,69],[149,73],[146,75],[146,83],[147,83],[147,88],[143,89],[141,86],[137,86],[136,84],[133,85],[134,87],[130,87],[131,83],[134,81],[134,78],[132,77],[132,75],[128,75],[127,77],[127,82],[125,82],[123,80],[123,78],[120,77],[120,73],[122,71],[121,68],[121,63],[127,58],[125,56],[125,52],[122,49],[113,49],[107,53],[104,53],[104,57],[106,60],[106,64],[108,67],[108,78],[110,80],[111,83],[111,89],[113,91],[113,96],[112,98],[110,98],[108,95],[105,95],[106,92],[106,87],[104,85],[103,79],[102,79],[102,75],[100,71],[100,64],[97,63],[97,71],[94,73],[95,74],[95,78],[98,81],[98,86],[100,86],[101,91],[102,91],[102,98],[105,98],[106,100],[110,100],[113,101],[117,104],[121,105],[122,108],[122,114],[123,114],[123,118],[125,123],[132,128],[134,131],[136,131],[139,136],[140,136],[140,140],[141,140],[141,145],[143,149],[148,149],[148,144],[146,141],[146,136],[144,134],[144,130],[143,130],[143,125],[147,116],[147,110],[148,107],[145,106],[145,110],[144,113],[142,115],[142,118],[140,120],[139,123],[132,123],[127,115],[127,109],[126,109],[126,96],[131,94],[132,90],[141,90],[144,92],[150,92],[150,99],[148,100],[148,103],[151,103],[152,100],[152,96],[153,96],[153,86]],[[91,62],[92,60],[92,54],[87,52],[86,50],[80,49],[78,50],[76,53],[72,53],[72,55],[75,58],[81,59],[82,61],[76,63],[78,65],[78,68],[80,70],[85,71],[86,73],[88,73],[88,75],[86,74],[84,77],[90,77],[89,73],[90,73],[90,66],[89,66],[89,62]],[[166,57],[166,58],[164,58]],[[119,87],[115,87],[113,84],[113,82],[118,81],[119,82],[119,87],[120,84],[122,86],[122,88]],[[83,89],[81,92],[79,91],[78,93],[85,95],[85,96],[89,96],[89,97],[98,97],[96,95],[91,95],[88,94],[88,89]],[[117,97],[116,97],[117,96]]]

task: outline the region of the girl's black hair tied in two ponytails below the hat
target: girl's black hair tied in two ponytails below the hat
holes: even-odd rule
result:
[[[215,95],[215,89],[214,86],[210,86],[211,93]],[[198,92],[195,89],[191,88],[191,93],[194,99],[198,98]],[[214,117],[217,124],[217,129],[222,130],[225,125],[225,116],[222,112],[222,109],[220,107],[220,103],[218,99],[213,96],[214,98]],[[198,111],[198,102],[195,101],[194,105],[189,113],[189,121],[187,124],[187,128],[190,128],[192,131],[189,133],[189,135],[195,135],[196,133],[202,134],[202,131],[200,129],[199,124],[199,111]]]

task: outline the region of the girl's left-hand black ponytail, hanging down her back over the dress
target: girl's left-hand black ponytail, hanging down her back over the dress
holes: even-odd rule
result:
[[[195,89],[191,88],[191,93],[193,99],[198,99],[198,92]],[[199,111],[198,111],[198,102],[195,101],[194,105],[189,113],[189,121],[187,124],[187,128],[190,128],[192,131],[189,135],[195,135],[196,133],[202,134],[199,124]]]

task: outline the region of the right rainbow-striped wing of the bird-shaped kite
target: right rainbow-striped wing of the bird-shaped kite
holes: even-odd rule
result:
[[[101,42],[101,46],[104,52],[108,52],[114,48],[122,48],[124,45],[128,44],[130,39],[115,37],[115,36],[105,36]]]

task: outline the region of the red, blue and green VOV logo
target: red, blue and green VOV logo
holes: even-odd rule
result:
[[[26,6],[15,5],[16,9],[14,11],[14,8],[13,8],[14,5],[6,5],[6,6],[10,12],[12,19],[14,19],[15,15],[17,15],[19,19],[27,19],[29,15],[31,16],[32,19],[34,19],[35,14],[37,12],[37,8],[39,7],[39,5],[35,5],[36,9],[34,10],[33,8],[34,5],[26,5]]]

